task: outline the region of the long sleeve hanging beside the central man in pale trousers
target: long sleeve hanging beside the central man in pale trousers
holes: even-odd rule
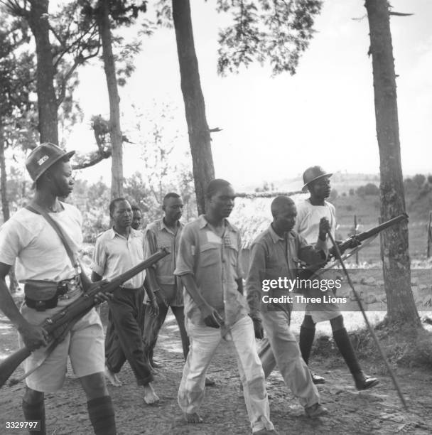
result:
[[[246,297],[247,303],[251,314],[259,311],[261,296],[262,296],[262,283],[261,276],[266,269],[266,252],[263,245],[255,243],[251,247],[251,254],[249,259],[249,272],[246,280]]]

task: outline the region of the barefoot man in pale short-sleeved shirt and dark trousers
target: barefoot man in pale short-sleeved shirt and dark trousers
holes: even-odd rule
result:
[[[124,198],[112,200],[109,215],[114,226],[99,235],[92,262],[92,281],[112,279],[148,257],[144,235],[131,227],[132,209]],[[144,387],[144,402],[153,404],[159,398],[153,391],[151,367],[144,355],[140,321],[144,309],[144,278],[141,272],[114,290],[109,301],[109,323],[105,338],[105,375],[114,386],[121,385],[117,373],[129,362],[138,385]],[[151,291],[150,291],[151,292]],[[150,294],[155,313],[156,301]]]

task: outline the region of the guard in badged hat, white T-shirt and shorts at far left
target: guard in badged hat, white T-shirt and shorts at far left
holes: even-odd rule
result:
[[[26,378],[22,407],[24,418],[41,421],[41,426],[31,433],[45,434],[45,393],[62,387],[69,356],[87,396],[95,434],[116,434],[114,408],[104,380],[104,332],[95,309],[82,316],[65,339],[48,351],[48,356],[48,335],[39,326],[82,294],[77,262],[72,264],[82,243],[82,216],[77,208],[58,199],[72,192],[69,160],[74,153],[45,143],[28,155],[26,168],[36,191],[28,208],[18,210],[0,230],[0,306],[18,329],[20,344],[33,350],[24,362],[24,370],[37,368]],[[46,214],[69,239],[72,254],[68,255],[62,240],[45,220]],[[21,311],[5,281],[15,260],[18,281],[25,284],[26,299]],[[46,281],[46,286],[38,288],[36,280]],[[109,297],[99,294],[97,299]]]

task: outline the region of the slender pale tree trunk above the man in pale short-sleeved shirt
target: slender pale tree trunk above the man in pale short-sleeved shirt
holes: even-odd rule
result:
[[[112,145],[111,198],[123,196],[123,149],[120,127],[120,97],[117,89],[116,65],[112,54],[112,34],[109,22],[109,2],[100,1],[99,34],[102,39],[102,58],[107,77],[109,97],[109,136]]]

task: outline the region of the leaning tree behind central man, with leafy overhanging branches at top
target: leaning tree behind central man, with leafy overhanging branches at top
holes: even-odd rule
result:
[[[217,0],[217,11],[226,12],[232,23],[220,31],[217,70],[237,71],[254,60],[269,61],[274,73],[296,72],[302,51],[313,36],[313,18],[321,0]],[[198,211],[205,209],[204,189],[215,171],[210,147],[204,97],[195,53],[189,0],[172,0],[172,15],[180,64],[181,89],[193,159],[193,176]],[[167,0],[158,1],[158,24],[171,15]]]

